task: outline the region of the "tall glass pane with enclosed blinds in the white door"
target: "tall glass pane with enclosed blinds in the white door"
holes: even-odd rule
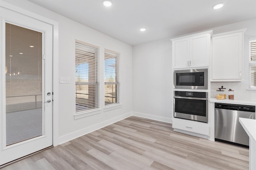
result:
[[[42,135],[42,33],[6,23],[6,146]]]

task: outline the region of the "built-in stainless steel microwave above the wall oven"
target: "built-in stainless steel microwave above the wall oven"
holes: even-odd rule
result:
[[[174,71],[175,89],[208,89],[208,69]]]

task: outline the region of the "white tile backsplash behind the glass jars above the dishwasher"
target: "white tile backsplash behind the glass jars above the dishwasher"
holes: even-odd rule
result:
[[[242,100],[256,100],[256,90],[248,90],[248,82],[211,82],[211,97],[216,97],[216,90],[223,86],[226,88],[226,95],[228,89],[234,90],[234,99]]]

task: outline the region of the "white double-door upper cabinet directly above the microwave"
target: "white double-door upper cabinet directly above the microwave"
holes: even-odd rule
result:
[[[209,66],[211,34],[208,31],[171,39],[173,68]]]

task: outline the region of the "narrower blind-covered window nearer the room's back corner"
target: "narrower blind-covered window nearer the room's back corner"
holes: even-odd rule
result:
[[[119,104],[119,53],[105,49],[104,65],[105,106]]]

